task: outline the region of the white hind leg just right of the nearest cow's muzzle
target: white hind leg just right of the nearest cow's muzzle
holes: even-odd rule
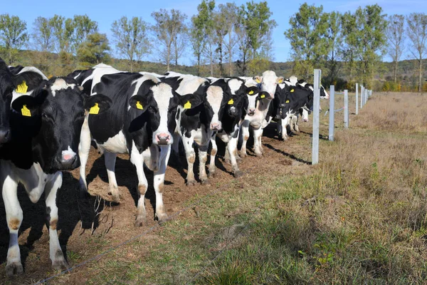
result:
[[[89,152],[90,130],[88,116],[86,116],[80,133],[80,142],[78,144],[78,156],[80,157],[80,197],[85,197],[88,195],[88,184],[86,183],[86,163],[88,163]]]

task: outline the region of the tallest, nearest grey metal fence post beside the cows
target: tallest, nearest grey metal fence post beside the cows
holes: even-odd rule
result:
[[[319,163],[319,123],[320,123],[320,78],[322,71],[315,69],[315,86],[313,99],[313,135],[312,135],[312,165]],[[334,110],[332,110],[333,112]]]

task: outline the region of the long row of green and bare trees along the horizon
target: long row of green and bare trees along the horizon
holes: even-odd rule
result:
[[[184,56],[191,57],[199,76],[253,75],[272,64],[272,32],[277,24],[267,1],[237,6],[203,0],[190,19],[176,9],[160,9],[151,16],[152,25],[141,17],[117,19],[109,39],[87,15],[38,17],[27,29],[19,16],[3,14],[0,56],[10,64],[19,63],[19,51],[26,49],[29,61],[52,75],[101,62],[120,63],[124,70],[137,71],[148,64],[143,58],[169,71],[177,70]],[[402,85],[415,85],[399,74],[399,61],[406,51],[417,61],[417,89],[425,85],[425,13],[387,16],[377,4],[344,14],[326,13],[322,6],[304,3],[289,23],[284,36],[290,41],[292,73],[298,77],[310,79],[313,68],[322,68],[325,85],[352,88],[359,82],[374,88],[374,79],[384,73],[381,63],[388,53],[394,62],[393,78],[381,88],[401,90]],[[114,58],[113,52],[125,61]]]

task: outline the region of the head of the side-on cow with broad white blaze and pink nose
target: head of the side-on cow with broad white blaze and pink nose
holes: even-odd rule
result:
[[[129,100],[132,108],[146,113],[152,130],[152,143],[172,145],[172,133],[176,128],[176,107],[181,103],[179,96],[167,83],[157,83],[145,95],[133,95]],[[186,98],[190,105],[196,105],[194,98]],[[191,101],[191,102],[190,102]],[[182,103],[185,105],[185,103]],[[188,106],[188,104],[186,105]]]

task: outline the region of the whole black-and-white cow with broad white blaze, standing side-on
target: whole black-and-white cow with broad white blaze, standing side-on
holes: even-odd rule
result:
[[[144,164],[154,172],[156,194],[155,216],[159,222],[167,219],[162,192],[167,162],[174,142],[172,136],[178,105],[187,102],[199,105],[195,96],[179,96],[167,83],[158,78],[140,73],[119,72],[114,68],[95,68],[92,73],[91,96],[103,93],[112,100],[112,108],[102,115],[90,112],[83,123],[80,136],[80,191],[87,192],[85,165],[88,161],[91,137],[99,150],[104,153],[105,167],[112,200],[120,201],[115,179],[117,153],[129,153],[130,162],[135,165],[138,177],[139,199],[135,227],[146,219],[144,195],[148,182]]]

